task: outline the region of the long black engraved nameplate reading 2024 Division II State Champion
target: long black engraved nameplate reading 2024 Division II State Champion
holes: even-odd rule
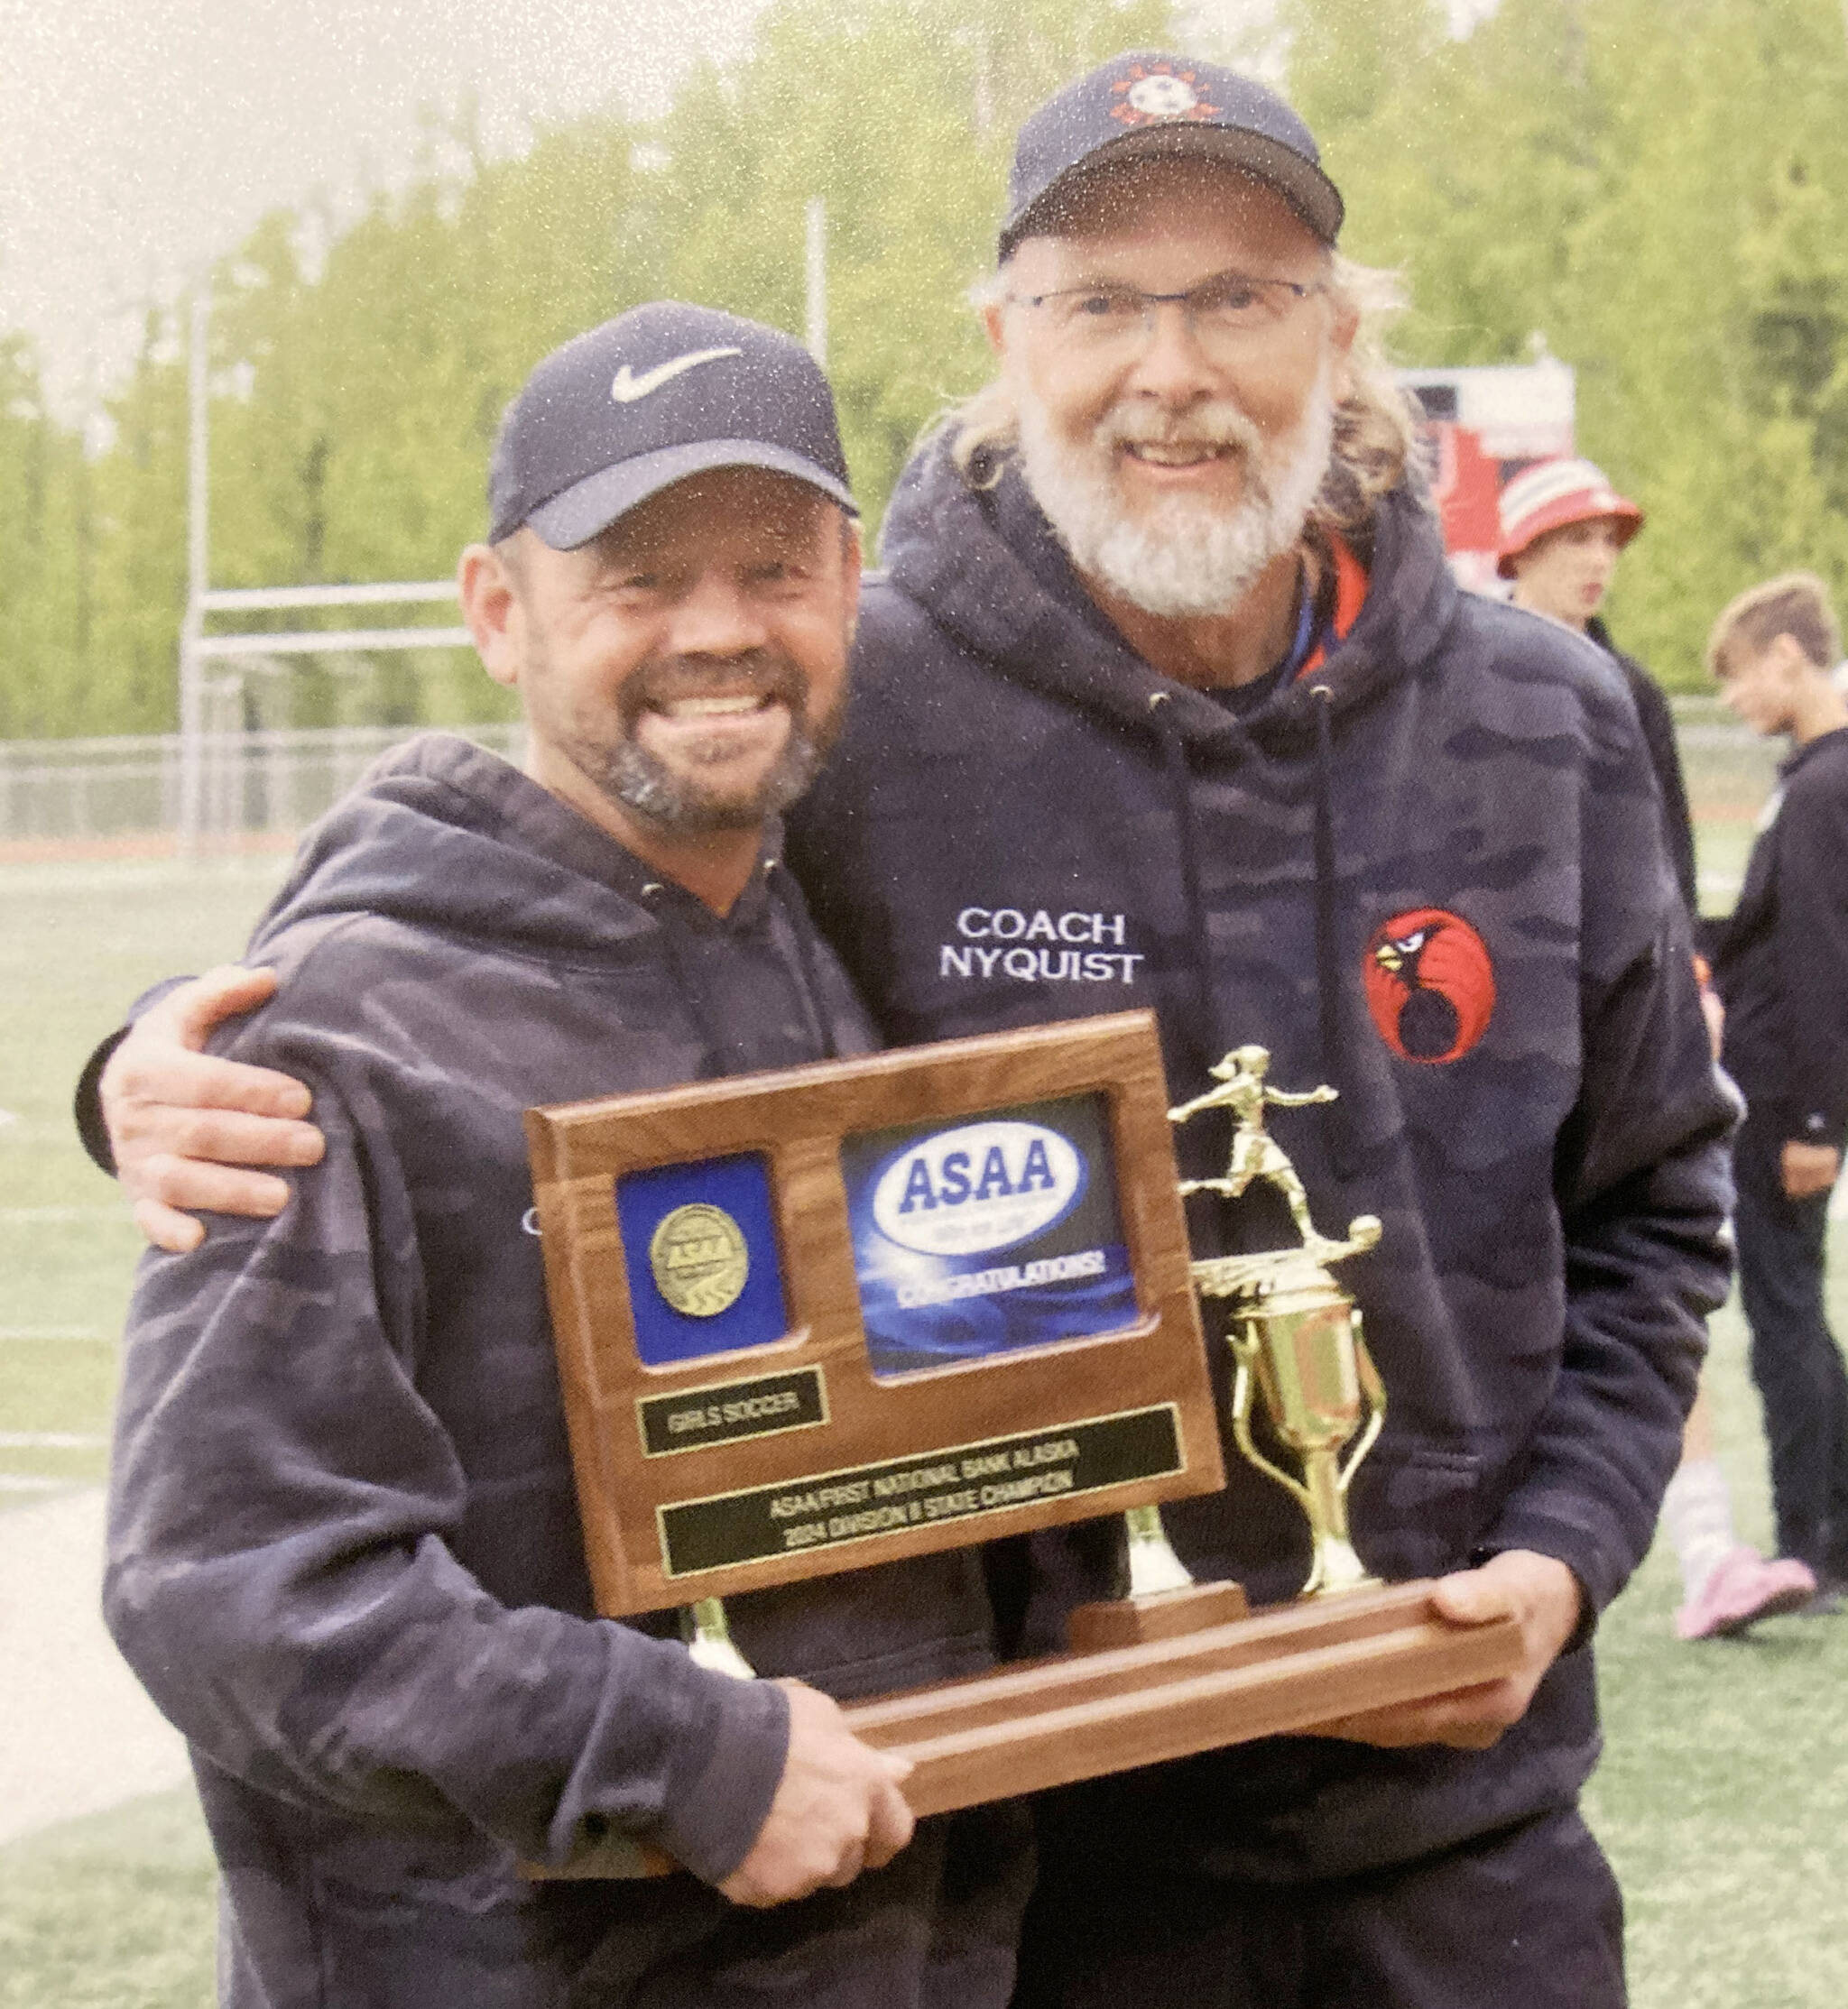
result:
[[[926,1523],[998,1515],[1185,1469],[1179,1412],[1173,1402],[1161,1402],[1121,1416],[657,1507],[661,1567],[669,1577],[691,1577],[765,1555],[878,1541]]]

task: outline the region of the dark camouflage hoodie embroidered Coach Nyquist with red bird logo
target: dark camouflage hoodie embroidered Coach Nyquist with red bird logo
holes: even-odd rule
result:
[[[1384,1221],[1342,1272],[1390,1392],[1356,1545],[1386,1577],[1537,1549],[1599,1611],[1649,1545],[1725,1292],[1731,1121],[1609,659],[1460,595],[1404,490],[1370,577],[1340,567],[1344,639],[1245,717],[1127,647],[1012,466],[978,488],[926,446],[884,556],[789,862],[886,1037],[1151,1004],[1175,1101],[1245,1041],[1274,1085],[1338,1087],[1272,1131],[1320,1227]],[[1177,1141],[1223,1171],[1223,1117]],[[1201,1254],[1294,1240],[1263,1191],[1189,1223]],[[1227,1471],[1167,1509],[1175,1547],[1286,1597],[1304,1521],[1231,1442]],[[1113,1541],[1036,1537],[1030,1647]],[[1569,1804],[1595,1752],[1575,1649],[1494,1752],[1213,1754],[1169,1768],[1169,1832],[1251,1874],[1340,1874]]]

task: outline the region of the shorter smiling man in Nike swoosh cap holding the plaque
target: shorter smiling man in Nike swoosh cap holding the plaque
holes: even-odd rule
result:
[[[526,771],[430,733],[309,834],[225,1065],[313,1083],[325,1157],[131,1310],[104,1605],[193,1746],[221,2001],[1000,2009],[1024,1834],[912,1838],[832,1700],[986,1665],[976,1561],[735,1599],[779,1680],[597,1619],[522,1221],[530,1103],[872,1045],[765,844],[854,625],[828,386],[635,309],[532,374],[490,508]]]

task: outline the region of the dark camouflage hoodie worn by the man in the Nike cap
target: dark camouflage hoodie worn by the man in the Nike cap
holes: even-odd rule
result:
[[[520,1113],[864,1051],[787,874],[719,918],[428,735],[309,834],[251,956],[281,988],[221,1051],[307,1081],[327,1155],[277,1219],[143,1262],[104,1589],[193,1746],[221,1999],[998,2009],[1004,1848],[924,1824],[848,1892],[733,1911],[709,1884],[769,1808],[787,1704],[669,1619],[593,1615]],[[990,1659],[960,1551],[729,1613],[759,1673],[838,1696]],[[605,1834],[705,1882],[514,1870]]]

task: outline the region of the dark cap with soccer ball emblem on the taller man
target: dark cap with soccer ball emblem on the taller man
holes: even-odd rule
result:
[[[1115,56],[1043,104],[1014,145],[1000,257],[1057,223],[1081,175],[1119,161],[1225,161],[1269,183],[1332,245],[1342,191],[1322,173],[1310,129],[1263,84],[1185,56]]]

